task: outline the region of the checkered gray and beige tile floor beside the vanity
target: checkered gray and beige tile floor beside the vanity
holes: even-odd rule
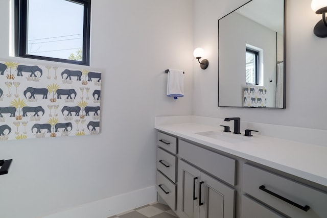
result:
[[[107,218],[176,218],[177,215],[165,204],[154,202]]]

